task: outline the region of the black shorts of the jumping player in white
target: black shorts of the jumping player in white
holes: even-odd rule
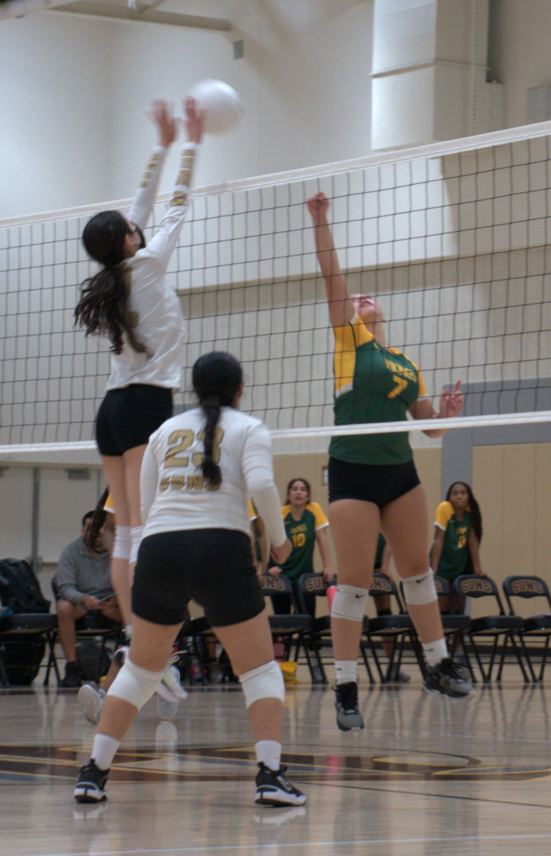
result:
[[[110,389],[96,417],[100,455],[123,455],[144,446],[153,431],[172,416],[172,389],[151,383],[130,383]]]

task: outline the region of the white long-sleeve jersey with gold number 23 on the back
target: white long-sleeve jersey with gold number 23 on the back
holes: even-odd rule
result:
[[[204,452],[205,416],[197,407],[167,419],[151,435],[141,468],[143,538],[182,529],[237,529],[251,533],[252,499],[272,544],[286,539],[274,481],[270,433],[263,422],[222,407],[214,458],[222,484],[210,490],[199,469]]]

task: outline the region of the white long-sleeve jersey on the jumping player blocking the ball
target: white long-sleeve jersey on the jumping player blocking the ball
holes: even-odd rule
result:
[[[140,229],[150,217],[157,196],[161,168],[167,150],[155,146],[145,175],[133,199],[128,219]],[[187,216],[197,146],[187,143],[175,179],[167,211],[157,233],[143,250],[126,263],[130,294],[127,310],[136,325],[136,335],[151,352],[138,354],[126,341],[121,354],[111,354],[111,374],[107,389],[120,389],[129,383],[180,388],[182,354],[186,324],[180,300],[165,273],[174,253],[181,226]]]

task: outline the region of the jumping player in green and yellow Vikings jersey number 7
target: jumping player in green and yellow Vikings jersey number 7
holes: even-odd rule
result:
[[[413,419],[457,416],[463,409],[460,382],[442,393],[436,411],[418,367],[406,354],[387,347],[381,306],[364,294],[348,293],[327,220],[329,199],[317,193],[307,205],[335,332],[336,424],[404,420],[407,412]],[[441,437],[445,431],[425,433]],[[424,687],[451,696],[472,693],[447,656],[427,556],[427,500],[406,432],[334,437],[329,455],[329,522],[339,577],[331,613],[337,725],[341,730],[364,725],[358,710],[357,657],[379,531],[390,545],[423,645]]]

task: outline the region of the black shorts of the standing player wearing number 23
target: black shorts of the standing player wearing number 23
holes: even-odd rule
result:
[[[264,597],[245,532],[189,529],[144,538],[134,570],[133,613],[154,624],[180,624],[190,600],[203,607],[212,627],[262,612]]]

